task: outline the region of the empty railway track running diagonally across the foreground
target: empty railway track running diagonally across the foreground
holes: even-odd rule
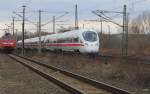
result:
[[[131,92],[126,90],[91,80],[29,58],[12,54],[9,54],[9,56],[72,94],[131,94]]]

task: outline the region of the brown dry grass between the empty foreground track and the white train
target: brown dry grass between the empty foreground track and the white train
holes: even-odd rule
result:
[[[33,58],[44,61],[92,79],[124,88],[136,94],[149,94],[150,64],[100,60],[98,58],[63,54],[35,54]],[[148,93],[147,93],[148,92]]]

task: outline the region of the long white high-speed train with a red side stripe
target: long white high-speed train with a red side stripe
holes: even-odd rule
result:
[[[38,49],[39,37],[25,39],[25,48]],[[22,41],[18,41],[18,48],[22,47]],[[65,33],[57,33],[41,37],[42,49],[56,51],[75,51],[80,53],[98,53],[98,33],[92,29],[72,30]]]

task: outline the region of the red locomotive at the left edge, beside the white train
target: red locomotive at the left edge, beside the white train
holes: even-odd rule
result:
[[[10,33],[5,33],[4,36],[0,38],[0,49],[6,51],[12,51],[16,47],[16,41],[14,36]]]

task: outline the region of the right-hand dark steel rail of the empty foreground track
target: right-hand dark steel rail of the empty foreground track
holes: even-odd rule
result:
[[[126,91],[126,90],[123,90],[123,89],[120,89],[120,88],[117,88],[117,87],[114,87],[114,86],[111,86],[111,85],[108,85],[108,84],[105,84],[105,83],[102,83],[102,82],[98,82],[96,80],[89,79],[87,77],[84,77],[84,76],[81,76],[81,75],[78,75],[78,74],[74,74],[72,72],[65,71],[65,70],[62,70],[60,68],[57,68],[57,67],[54,67],[54,66],[50,66],[50,65],[41,63],[39,61],[36,61],[36,60],[32,60],[32,59],[29,59],[29,58],[26,58],[26,57],[22,57],[22,56],[19,56],[19,57],[20,58],[24,58],[26,60],[29,60],[31,62],[34,62],[34,63],[36,63],[38,65],[43,66],[43,67],[47,67],[47,68],[53,69],[55,71],[59,71],[60,73],[63,73],[64,75],[67,75],[67,76],[70,76],[72,78],[76,78],[78,80],[84,81],[84,82],[86,82],[88,84],[91,84],[91,85],[93,85],[95,87],[98,87],[100,89],[104,89],[104,90],[106,90],[108,92],[111,92],[112,94],[131,94],[131,92],[129,92],[129,91]]]

